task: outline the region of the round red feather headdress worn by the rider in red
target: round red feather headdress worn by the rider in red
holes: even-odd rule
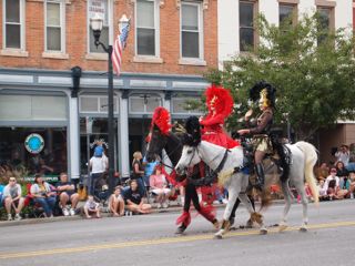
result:
[[[223,114],[224,117],[231,114],[234,101],[229,90],[223,86],[212,84],[206,89],[205,95],[209,110],[211,106],[211,100],[216,96],[216,100],[214,100],[215,111],[219,114]]]

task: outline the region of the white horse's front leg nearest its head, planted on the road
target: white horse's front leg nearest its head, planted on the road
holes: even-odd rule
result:
[[[230,217],[233,209],[233,206],[236,202],[236,198],[240,194],[241,187],[240,184],[237,184],[237,178],[235,176],[231,177],[231,183],[227,185],[229,191],[229,202],[225,206],[224,214],[223,214],[223,222],[221,225],[220,231],[215,234],[216,238],[222,238],[222,236],[230,229]]]

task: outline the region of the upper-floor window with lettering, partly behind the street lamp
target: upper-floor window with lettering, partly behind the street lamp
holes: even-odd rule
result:
[[[100,35],[100,41],[108,47],[112,43],[112,0],[88,0],[88,32],[89,32],[89,53],[105,53],[102,47],[95,47],[93,32],[90,28],[90,19],[98,13],[103,19],[103,28]]]

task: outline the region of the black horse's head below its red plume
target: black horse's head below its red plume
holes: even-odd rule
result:
[[[168,135],[163,134],[161,130],[154,124],[150,132],[150,141],[146,149],[146,161],[152,162],[160,155],[166,145]]]

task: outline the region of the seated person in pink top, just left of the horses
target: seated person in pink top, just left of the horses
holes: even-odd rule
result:
[[[171,190],[168,187],[165,175],[162,174],[162,167],[156,165],[153,174],[150,177],[151,192],[158,202],[158,208],[169,207],[168,198],[171,195]]]

